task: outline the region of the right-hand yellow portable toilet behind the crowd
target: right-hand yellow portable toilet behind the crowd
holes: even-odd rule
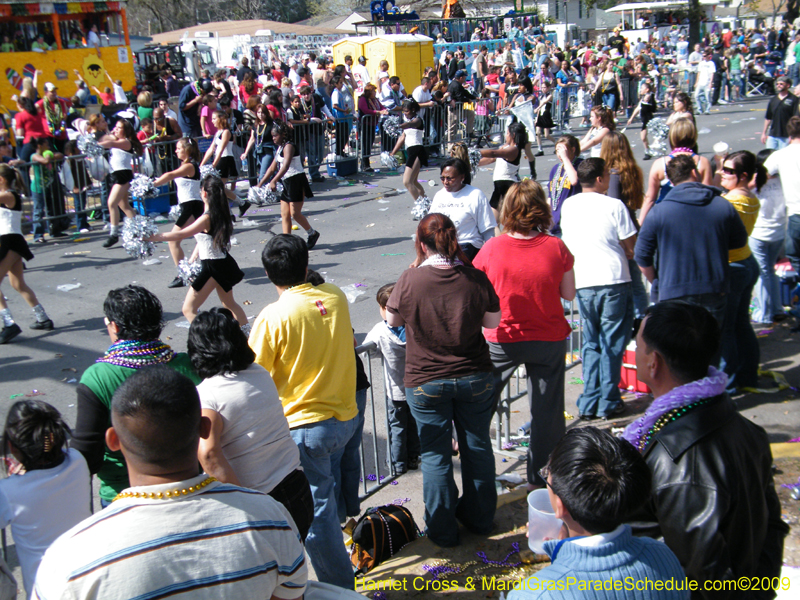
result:
[[[364,56],[374,77],[379,63],[389,63],[389,75],[397,75],[406,90],[419,85],[425,67],[435,66],[433,38],[412,33],[379,35],[364,43]]]

